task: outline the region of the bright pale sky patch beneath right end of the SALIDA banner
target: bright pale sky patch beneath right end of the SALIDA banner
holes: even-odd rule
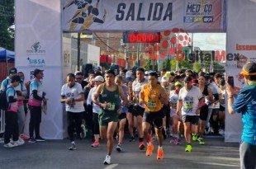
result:
[[[225,33],[194,33],[193,45],[201,50],[225,50]]]

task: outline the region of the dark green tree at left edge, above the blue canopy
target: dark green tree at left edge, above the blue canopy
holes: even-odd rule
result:
[[[14,0],[0,1],[0,46],[14,50]]]

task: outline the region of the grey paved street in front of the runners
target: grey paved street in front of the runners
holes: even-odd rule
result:
[[[26,143],[17,148],[0,146],[1,169],[239,169],[239,143],[225,143],[223,138],[206,138],[206,145],[192,143],[192,152],[184,152],[185,143],[171,145],[164,141],[164,160],[156,159],[157,145],[154,143],[152,157],[138,148],[138,141],[123,143],[123,152],[116,149],[111,155],[111,165],[103,165],[107,144],[91,148],[91,140],[77,140],[78,150],[69,151],[69,140],[47,140],[45,143]],[[115,145],[116,148],[116,145]]]

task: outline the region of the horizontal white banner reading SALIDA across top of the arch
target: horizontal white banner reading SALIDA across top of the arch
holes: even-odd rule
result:
[[[63,29],[224,32],[225,0],[64,0]]]

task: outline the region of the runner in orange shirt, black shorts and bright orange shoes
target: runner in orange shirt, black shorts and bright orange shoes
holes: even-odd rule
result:
[[[146,156],[152,156],[154,145],[149,140],[149,130],[151,125],[154,124],[155,133],[158,137],[159,149],[157,159],[164,158],[163,151],[163,112],[162,106],[168,104],[168,96],[158,83],[158,74],[149,73],[149,83],[142,87],[140,91],[140,103],[145,104],[145,113],[143,115],[143,131],[144,138],[147,140]]]

